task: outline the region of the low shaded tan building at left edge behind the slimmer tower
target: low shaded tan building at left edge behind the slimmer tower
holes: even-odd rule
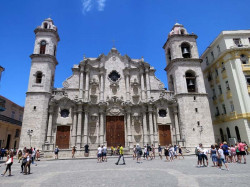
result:
[[[4,110],[0,113],[0,147],[18,148],[24,107],[0,96]]]

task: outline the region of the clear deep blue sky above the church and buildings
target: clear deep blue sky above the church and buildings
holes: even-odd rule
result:
[[[115,46],[144,57],[167,87],[163,44],[173,25],[198,35],[200,55],[222,30],[250,29],[249,0],[0,0],[0,94],[24,106],[34,47],[34,29],[51,17],[58,45],[55,87],[86,57]]]

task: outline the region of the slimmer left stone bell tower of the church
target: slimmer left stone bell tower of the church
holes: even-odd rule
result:
[[[48,106],[54,87],[57,43],[60,38],[53,20],[45,19],[35,30],[28,91],[24,108],[20,148],[42,149],[46,137]]]

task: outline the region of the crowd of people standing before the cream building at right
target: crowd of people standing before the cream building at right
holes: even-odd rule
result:
[[[200,143],[195,149],[198,157],[197,167],[209,167],[208,155],[212,159],[212,167],[222,169],[222,165],[229,170],[228,163],[244,163],[246,164],[246,155],[248,154],[248,145],[246,142],[237,142],[235,145],[228,145],[227,142],[211,145],[210,149],[206,149]]]

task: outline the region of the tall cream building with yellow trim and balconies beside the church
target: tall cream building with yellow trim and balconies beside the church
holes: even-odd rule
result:
[[[202,54],[216,142],[250,143],[250,30],[223,31]]]

